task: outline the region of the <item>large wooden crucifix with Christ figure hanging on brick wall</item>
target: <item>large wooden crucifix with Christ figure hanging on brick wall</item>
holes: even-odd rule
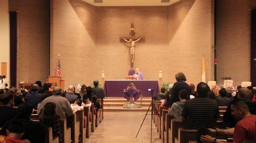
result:
[[[130,55],[131,55],[131,67],[133,67],[134,63],[134,48],[135,48],[135,42],[140,41],[140,39],[145,39],[145,37],[136,37],[135,32],[134,32],[134,24],[131,23],[131,28],[130,28],[130,37],[119,37],[120,40],[125,40],[125,42],[131,43],[131,48],[130,48]]]

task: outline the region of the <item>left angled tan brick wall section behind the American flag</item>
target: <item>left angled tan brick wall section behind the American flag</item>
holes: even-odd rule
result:
[[[96,7],[82,0],[51,0],[50,75],[55,76],[61,54],[66,89],[70,84],[88,86],[97,74],[95,16]]]

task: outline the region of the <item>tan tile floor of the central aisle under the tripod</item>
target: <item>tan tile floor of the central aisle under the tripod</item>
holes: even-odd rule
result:
[[[145,112],[105,112],[100,123],[86,143],[150,143],[150,117]],[[162,143],[157,128],[152,124],[152,143]],[[138,130],[139,135],[136,137]]]

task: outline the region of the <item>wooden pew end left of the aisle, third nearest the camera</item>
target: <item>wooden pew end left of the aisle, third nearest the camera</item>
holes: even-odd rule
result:
[[[77,117],[76,113],[73,113],[73,115],[71,115],[71,143],[79,143],[79,126],[79,118]]]

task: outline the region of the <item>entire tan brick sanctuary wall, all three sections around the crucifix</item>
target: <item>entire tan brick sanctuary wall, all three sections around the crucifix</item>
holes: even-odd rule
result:
[[[207,80],[213,79],[211,1],[189,0],[172,6],[93,7],[77,0],[53,0],[51,8],[51,75],[61,54],[62,77],[68,84],[90,84],[101,79],[123,79],[130,69],[129,36],[134,23],[137,43],[134,68],[144,79],[175,82],[183,71],[189,83],[201,81],[201,62],[206,60]]]

